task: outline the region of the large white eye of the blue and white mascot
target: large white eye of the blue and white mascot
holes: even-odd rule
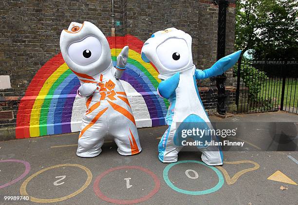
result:
[[[189,62],[189,49],[183,39],[168,39],[156,48],[159,61],[170,70],[185,67]]]

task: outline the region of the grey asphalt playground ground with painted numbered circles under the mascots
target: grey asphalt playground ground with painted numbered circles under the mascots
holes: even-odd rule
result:
[[[264,130],[257,125],[247,127],[244,149],[223,151],[220,167],[202,163],[198,151],[180,152],[178,163],[161,163],[157,145],[167,126],[139,129],[142,152],[128,157],[107,139],[99,156],[79,158],[78,133],[3,141],[0,204],[298,204],[298,115],[271,112],[210,120],[291,122],[286,133],[291,150],[266,151]],[[8,201],[5,196],[29,197]]]

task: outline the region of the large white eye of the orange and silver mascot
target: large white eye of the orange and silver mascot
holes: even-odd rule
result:
[[[101,43],[93,36],[74,42],[68,47],[69,57],[78,65],[88,65],[97,61],[101,56],[101,52]]]

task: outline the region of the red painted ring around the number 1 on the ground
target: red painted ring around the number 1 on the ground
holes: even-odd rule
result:
[[[121,199],[112,199],[112,198],[109,198],[107,197],[106,195],[104,195],[102,193],[102,191],[100,190],[99,188],[99,183],[100,183],[100,180],[105,176],[107,175],[108,173],[112,172],[112,171],[115,171],[115,170],[118,170],[118,169],[139,169],[147,174],[149,174],[153,180],[154,180],[154,183],[155,183],[155,186],[154,188],[149,192],[149,194],[147,194],[146,196],[143,196],[141,198],[138,198],[138,199],[131,199],[131,200],[121,200]],[[100,175],[98,175],[98,177],[96,177],[95,181],[94,181],[94,184],[93,184],[93,190],[94,190],[94,193],[102,200],[106,201],[106,202],[111,202],[111,203],[114,203],[114,204],[120,204],[120,205],[126,205],[126,204],[136,204],[136,203],[140,203],[140,202],[144,202],[146,200],[148,200],[150,197],[152,197],[154,194],[156,194],[158,192],[160,188],[160,181],[159,179],[157,178],[157,176],[151,172],[149,169],[146,169],[144,167],[141,167],[141,166],[118,166],[118,167],[114,167],[114,168],[111,168],[111,169],[108,169],[106,170],[105,172],[101,173]]]

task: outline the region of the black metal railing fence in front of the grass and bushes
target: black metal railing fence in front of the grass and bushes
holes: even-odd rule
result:
[[[239,59],[237,113],[283,110],[298,114],[298,62],[291,60]]]

